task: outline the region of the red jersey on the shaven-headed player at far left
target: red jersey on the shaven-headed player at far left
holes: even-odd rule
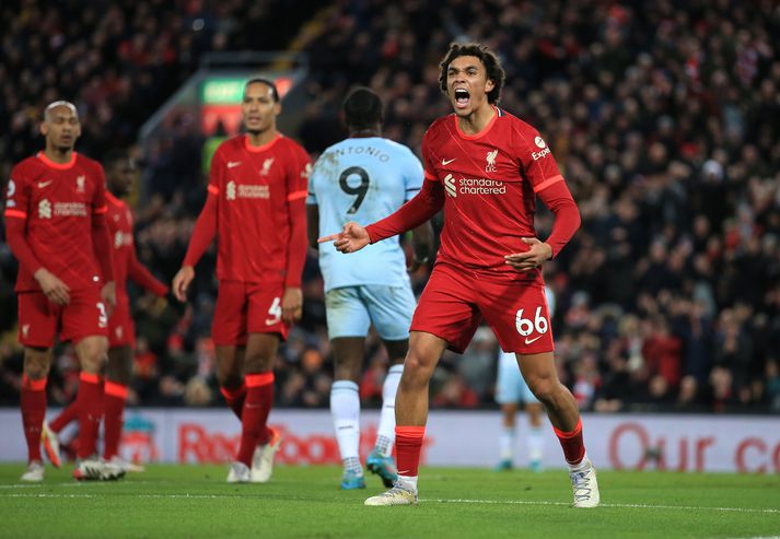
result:
[[[105,175],[96,161],[73,152],[54,163],[39,152],[11,171],[7,219],[26,220],[25,239],[38,261],[71,290],[101,284],[92,215],[106,212]],[[16,291],[40,290],[20,265]]]

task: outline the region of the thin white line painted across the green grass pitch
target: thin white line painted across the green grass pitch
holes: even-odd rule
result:
[[[20,487],[37,487],[37,485],[20,485]],[[139,497],[139,499],[190,499],[190,500],[223,500],[223,499],[236,499],[244,497],[240,494],[121,494],[123,497]],[[97,497],[94,494],[57,494],[57,493],[0,493],[0,497]],[[570,506],[567,502],[548,502],[548,501],[527,501],[527,500],[465,500],[465,499],[453,499],[453,500],[420,500],[420,503],[465,503],[465,504],[504,504],[504,505],[556,505],[556,506]],[[616,507],[616,508],[631,508],[631,509],[676,509],[676,511],[720,511],[720,512],[733,512],[733,513],[767,513],[767,514],[778,514],[780,509],[757,509],[747,507],[712,507],[712,506],[696,506],[696,505],[651,505],[651,504],[632,504],[632,503],[603,503],[599,507]]]

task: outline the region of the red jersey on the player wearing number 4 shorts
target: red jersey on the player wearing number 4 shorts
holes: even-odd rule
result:
[[[261,147],[252,147],[244,134],[220,144],[208,186],[219,197],[218,279],[284,279],[290,203],[306,197],[311,166],[306,151],[282,134]]]

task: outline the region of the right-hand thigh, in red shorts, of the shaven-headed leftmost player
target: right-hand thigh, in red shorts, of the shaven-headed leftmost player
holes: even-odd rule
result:
[[[70,303],[62,307],[61,320],[60,338],[63,341],[78,344],[90,337],[108,338],[108,310],[97,286],[71,290]]]

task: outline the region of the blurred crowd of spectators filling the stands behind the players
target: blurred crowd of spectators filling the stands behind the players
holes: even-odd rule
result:
[[[48,102],[77,103],[84,127],[78,149],[100,159],[135,143],[139,121],[203,51],[283,48],[299,30],[294,17],[279,24],[284,10],[273,8],[281,2],[251,3],[145,0],[78,12],[68,2],[53,10],[34,0],[3,3],[10,31],[0,58],[0,119],[9,126],[2,177],[39,148],[36,122]],[[312,14],[318,8],[303,3]],[[501,54],[508,70],[501,106],[542,131],[582,213],[578,235],[546,267],[559,374],[582,409],[780,411],[773,2],[346,0],[321,14],[304,45],[305,119],[288,133],[313,156],[344,136],[338,110],[358,83],[388,104],[385,134],[419,153],[429,122],[450,112],[438,86],[447,44],[481,40]],[[253,32],[271,16],[272,32]],[[168,282],[205,198],[190,153],[196,139],[183,122],[163,151],[141,156],[138,256]],[[540,212],[539,235],[550,227],[550,215]],[[137,402],[219,401],[208,338],[214,254],[212,247],[200,262],[190,303],[133,295]],[[412,276],[418,293],[428,271]],[[18,402],[21,372],[14,278],[15,261],[0,244],[5,405]],[[277,402],[326,407],[331,354],[314,254],[304,300],[304,318],[277,359]],[[491,406],[496,356],[489,330],[465,354],[445,355],[432,403]],[[372,401],[381,398],[387,361],[375,339],[366,359],[361,396]],[[51,402],[67,402],[78,380],[70,347],[56,364]]]

